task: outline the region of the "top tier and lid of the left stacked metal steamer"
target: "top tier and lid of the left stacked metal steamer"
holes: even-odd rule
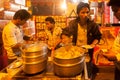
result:
[[[48,46],[47,46],[47,44],[42,43],[42,42],[24,44],[24,46],[22,47],[22,51],[23,51],[22,54],[25,56],[34,56],[34,55],[39,55],[41,53],[46,54],[48,52]],[[29,54],[29,53],[31,53],[31,54]]]

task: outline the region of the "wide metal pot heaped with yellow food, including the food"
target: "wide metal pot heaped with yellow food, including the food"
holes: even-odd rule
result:
[[[64,46],[54,51],[54,73],[60,77],[74,77],[84,68],[85,50],[77,46]]]

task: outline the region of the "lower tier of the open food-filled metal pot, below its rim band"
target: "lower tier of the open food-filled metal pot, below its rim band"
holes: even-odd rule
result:
[[[79,58],[79,57],[78,57]],[[64,62],[65,60],[63,60]],[[66,64],[60,64],[58,61],[53,61],[54,64],[54,73],[60,77],[74,77],[79,75],[84,69],[84,58],[82,58],[79,62],[74,62],[74,59],[69,59]]]

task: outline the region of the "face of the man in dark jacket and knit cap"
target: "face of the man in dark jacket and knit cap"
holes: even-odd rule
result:
[[[80,10],[78,16],[80,17],[80,20],[87,20],[90,14],[90,10],[87,7],[84,7]]]

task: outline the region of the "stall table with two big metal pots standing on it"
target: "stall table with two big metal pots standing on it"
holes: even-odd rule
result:
[[[62,50],[62,51],[61,51]],[[9,79],[76,79],[82,80],[87,77],[85,54],[83,48],[72,47],[68,52],[69,56],[61,56],[64,48],[56,50],[53,59],[47,56],[47,46],[44,43],[33,43],[23,49],[22,58],[4,68],[0,78]],[[70,56],[75,54],[74,56]],[[63,54],[62,54],[63,55]],[[67,55],[67,54],[66,54]],[[27,57],[26,57],[27,56]],[[72,57],[72,58],[71,58]],[[64,59],[62,59],[64,58]],[[38,63],[38,61],[40,63]],[[30,64],[29,64],[30,63]],[[83,73],[84,71],[84,73]],[[3,75],[3,76],[2,76]]]

